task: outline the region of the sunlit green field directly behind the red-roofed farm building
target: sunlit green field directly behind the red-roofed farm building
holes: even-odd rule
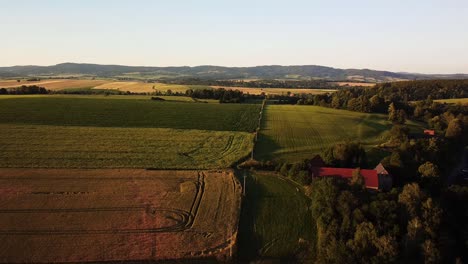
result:
[[[382,143],[391,128],[386,115],[299,105],[267,105],[262,122],[257,160],[297,161],[346,140],[371,147]],[[423,129],[413,122],[408,126],[413,131]]]

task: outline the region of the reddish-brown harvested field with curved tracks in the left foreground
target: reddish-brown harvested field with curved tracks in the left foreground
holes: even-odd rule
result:
[[[231,172],[0,169],[0,192],[0,262],[225,259],[237,236]]]

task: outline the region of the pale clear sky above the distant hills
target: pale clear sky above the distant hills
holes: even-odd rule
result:
[[[468,73],[467,0],[0,0],[0,66]]]

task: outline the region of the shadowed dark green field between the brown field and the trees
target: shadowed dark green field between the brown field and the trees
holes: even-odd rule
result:
[[[311,243],[309,198],[300,187],[275,175],[255,174],[246,182],[239,230],[240,257],[293,261],[300,248]]]

